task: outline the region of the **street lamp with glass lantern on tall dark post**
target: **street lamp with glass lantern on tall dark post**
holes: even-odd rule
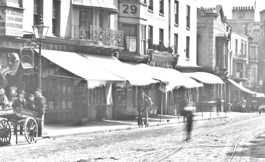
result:
[[[42,50],[42,46],[44,39],[47,35],[49,26],[44,26],[43,25],[43,19],[42,19],[42,15],[40,15],[39,17],[39,22],[37,25],[32,25],[32,29],[34,31],[34,34],[36,36],[37,39],[37,45],[39,46],[39,57],[38,57],[38,88],[42,88],[42,54],[41,54],[41,50]]]

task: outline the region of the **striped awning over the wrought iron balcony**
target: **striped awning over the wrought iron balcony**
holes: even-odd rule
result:
[[[72,5],[103,9],[109,11],[110,14],[119,14],[119,10],[109,0],[72,0]]]

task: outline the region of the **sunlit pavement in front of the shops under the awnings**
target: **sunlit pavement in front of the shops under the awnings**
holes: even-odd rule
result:
[[[256,113],[256,112],[255,112]],[[230,112],[224,113],[221,112],[218,116],[216,112],[203,112],[202,113],[194,113],[194,121],[201,121],[201,120],[211,120],[216,118],[233,118],[235,116],[247,116],[249,113],[237,113],[237,112]],[[253,114],[253,113],[250,113]],[[86,134],[95,134],[95,133],[104,133],[110,131],[122,131],[122,130],[130,130],[136,128],[144,128],[145,126],[138,126],[137,125],[138,118],[135,119],[128,119],[128,120],[103,120],[103,121],[85,121],[83,122],[82,126],[74,126],[73,123],[63,123],[63,124],[52,124],[52,125],[44,125],[43,131],[46,135],[43,137],[38,137],[37,140],[41,139],[50,139],[50,138],[61,138],[67,136],[80,136]],[[166,124],[175,124],[175,123],[183,123],[183,117],[174,115],[162,115],[161,122],[160,122],[160,115],[158,116],[151,116],[149,119],[149,126],[159,126],[159,125],[166,125]],[[144,121],[144,118],[143,118]],[[185,121],[184,121],[185,122]],[[11,144],[15,144],[16,136],[12,135],[11,137]],[[25,143],[26,138],[23,135],[18,135],[18,144]]]

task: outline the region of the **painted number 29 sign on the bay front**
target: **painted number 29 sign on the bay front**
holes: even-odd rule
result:
[[[120,3],[120,16],[139,17],[139,9],[138,4]]]

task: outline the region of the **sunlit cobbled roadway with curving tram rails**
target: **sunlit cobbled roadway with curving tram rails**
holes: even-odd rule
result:
[[[253,119],[260,120],[250,121]],[[265,114],[246,114],[234,118],[194,123],[192,138],[163,161],[226,161],[236,139],[244,133],[263,131]],[[243,123],[250,121],[244,124]],[[99,133],[41,140],[35,144],[0,147],[4,161],[155,161],[185,142],[185,124],[171,124],[127,131]],[[228,127],[231,126],[231,127]],[[254,128],[254,129],[253,129]],[[236,156],[236,154],[235,154]]]

